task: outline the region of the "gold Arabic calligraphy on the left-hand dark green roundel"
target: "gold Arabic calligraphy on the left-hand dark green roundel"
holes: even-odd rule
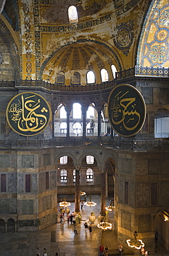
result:
[[[41,99],[37,101],[33,98],[36,95],[29,95],[24,98],[21,95],[21,101],[12,103],[8,109],[8,113],[11,113],[11,120],[17,122],[17,128],[20,131],[32,131],[37,132],[43,129],[48,122],[46,116],[43,113],[47,113],[48,109],[41,108],[41,113],[37,113],[37,109],[41,107]]]

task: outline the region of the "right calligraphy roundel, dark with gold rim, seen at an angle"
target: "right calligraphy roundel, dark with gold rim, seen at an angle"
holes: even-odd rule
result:
[[[117,134],[134,136],[143,127],[146,118],[143,96],[130,84],[115,86],[108,98],[108,117]]]

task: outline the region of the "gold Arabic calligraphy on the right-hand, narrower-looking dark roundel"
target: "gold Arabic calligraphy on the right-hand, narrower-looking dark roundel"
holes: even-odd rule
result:
[[[123,127],[128,130],[134,130],[140,122],[140,114],[137,112],[136,104],[134,104],[136,98],[123,98],[126,93],[121,94],[121,91],[115,95],[115,98],[112,100],[111,109],[112,109],[112,122],[115,125],[123,124]],[[126,104],[125,104],[126,102]],[[130,107],[130,110],[128,110]],[[128,117],[128,118],[127,118]],[[130,121],[136,122],[135,125],[131,126]],[[120,127],[120,129],[123,129]]]

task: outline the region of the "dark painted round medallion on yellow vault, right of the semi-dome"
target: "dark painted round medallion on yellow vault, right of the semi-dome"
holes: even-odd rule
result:
[[[117,35],[114,38],[114,43],[117,48],[123,51],[126,56],[129,53],[130,46],[133,40],[132,32],[133,22],[122,23],[117,26]]]

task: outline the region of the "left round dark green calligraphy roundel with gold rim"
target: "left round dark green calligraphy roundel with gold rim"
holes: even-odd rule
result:
[[[17,134],[34,136],[46,129],[51,117],[48,102],[37,93],[19,93],[6,109],[8,125]]]

